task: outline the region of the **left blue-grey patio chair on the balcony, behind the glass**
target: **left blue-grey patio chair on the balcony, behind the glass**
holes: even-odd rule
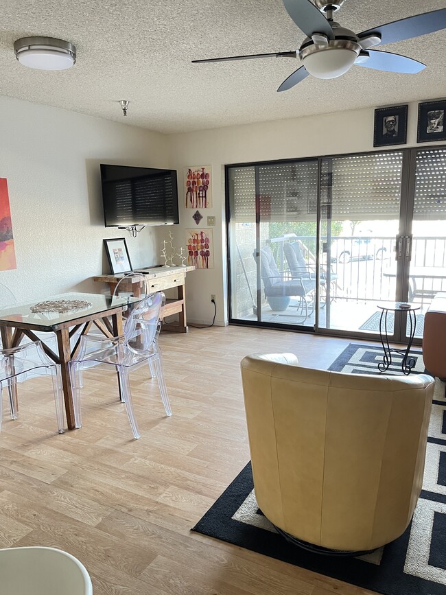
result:
[[[256,254],[253,253],[255,259]],[[302,272],[299,277],[292,277],[286,272],[280,273],[269,246],[260,249],[260,270],[263,290],[271,309],[278,312],[286,310],[291,297],[298,297],[298,308],[303,316],[302,322],[305,322],[309,305],[314,305],[316,289],[316,281],[310,277],[309,272]]]

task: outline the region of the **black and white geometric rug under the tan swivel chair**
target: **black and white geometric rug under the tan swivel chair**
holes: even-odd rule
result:
[[[379,347],[349,345],[330,369],[376,373]],[[423,372],[420,353],[416,369]],[[382,357],[382,351],[381,351]],[[342,364],[342,361],[344,364]],[[342,365],[341,365],[342,364]],[[398,373],[395,370],[395,373]],[[384,548],[358,558],[312,554],[292,546],[261,514],[250,463],[193,528],[290,564],[384,595],[446,594],[446,385],[436,380],[423,491],[406,532]]]

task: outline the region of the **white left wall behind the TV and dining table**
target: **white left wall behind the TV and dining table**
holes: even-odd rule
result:
[[[157,264],[155,228],[137,238],[104,227],[99,163],[167,167],[167,137],[0,97],[0,177],[8,179],[16,270],[0,283],[17,299],[98,292],[104,237],[126,237],[132,265]]]

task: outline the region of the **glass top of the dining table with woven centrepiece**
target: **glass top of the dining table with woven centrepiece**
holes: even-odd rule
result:
[[[41,299],[15,303],[0,308],[0,322],[38,325],[42,330],[51,331],[70,320],[107,312],[115,307],[124,307],[141,301],[134,296],[112,296],[69,292]],[[62,310],[62,312],[61,312]],[[14,325],[11,325],[14,326]]]

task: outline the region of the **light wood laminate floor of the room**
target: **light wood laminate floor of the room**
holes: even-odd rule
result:
[[[111,371],[84,373],[83,428],[62,435],[49,377],[19,384],[19,421],[4,397],[0,547],[71,552],[95,595],[371,594],[190,532],[250,458],[244,355],[292,352],[327,369],[348,342],[233,326],[163,333],[174,415],[165,417],[148,366],[132,373],[137,441]]]

